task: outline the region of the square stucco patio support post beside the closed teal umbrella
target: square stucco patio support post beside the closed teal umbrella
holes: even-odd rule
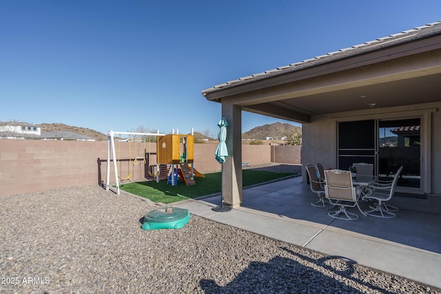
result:
[[[242,107],[222,101],[222,116],[227,120],[228,154],[223,163],[224,204],[236,208],[242,203]]]

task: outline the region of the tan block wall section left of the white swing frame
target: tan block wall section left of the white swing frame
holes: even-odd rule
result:
[[[107,142],[0,140],[0,196],[98,185]]]

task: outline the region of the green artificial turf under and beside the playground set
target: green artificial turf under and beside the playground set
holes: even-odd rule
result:
[[[275,173],[273,171],[243,170],[243,187],[256,185],[285,176],[292,176],[293,173]],[[156,182],[131,182],[123,184],[120,189],[129,193],[142,196],[153,202],[164,204],[181,201],[189,198],[196,198],[220,192],[221,173],[205,174],[205,178],[194,178],[196,185],[186,186],[185,182],[178,179],[178,185],[167,185],[167,180]]]

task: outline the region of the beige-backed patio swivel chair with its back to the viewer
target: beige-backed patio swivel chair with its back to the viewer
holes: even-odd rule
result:
[[[338,206],[338,211],[329,212],[328,216],[338,220],[357,220],[358,215],[347,211],[347,207],[358,207],[356,187],[352,185],[350,171],[331,169],[325,171],[325,197],[331,204]]]

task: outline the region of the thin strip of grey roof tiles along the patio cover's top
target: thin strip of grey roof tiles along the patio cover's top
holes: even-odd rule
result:
[[[316,56],[311,59],[306,59],[297,63],[291,63],[289,65],[277,67],[273,70],[267,70],[265,72],[260,72],[258,74],[252,74],[251,76],[238,78],[234,81],[227,81],[226,83],[220,85],[214,85],[214,87],[203,90],[202,94],[205,96],[209,92],[216,92],[218,90],[222,90],[227,87],[233,87],[235,85],[243,85],[245,83],[258,81],[264,78],[269,78],[271,76],[285,74],[287,72],[295,72],[297,70],[302,70],[307,67],[312,67],[314,65],[320,65],[332,61],[337,61],[339,59],[344,59],[349,56],[356,56],[358,54],[364,54],[367,52],[384,49],[392,45],[407,43],[410,41],[415,41],[416,39],[422,39],[425,36],[431,36],[433,34],[440,34],[440,33],[441,33],[441,20],[436,21],[434,23],[428,23],[427,25],[422,25],[417,28],[413,28],[411,30],[405,30],[397,34],[384,36],[382,38],[378,38],[373,41],[367,41],[362,44],[353,45],[349,48],[343,48],[338,51],[329,52],[327,54]]]

